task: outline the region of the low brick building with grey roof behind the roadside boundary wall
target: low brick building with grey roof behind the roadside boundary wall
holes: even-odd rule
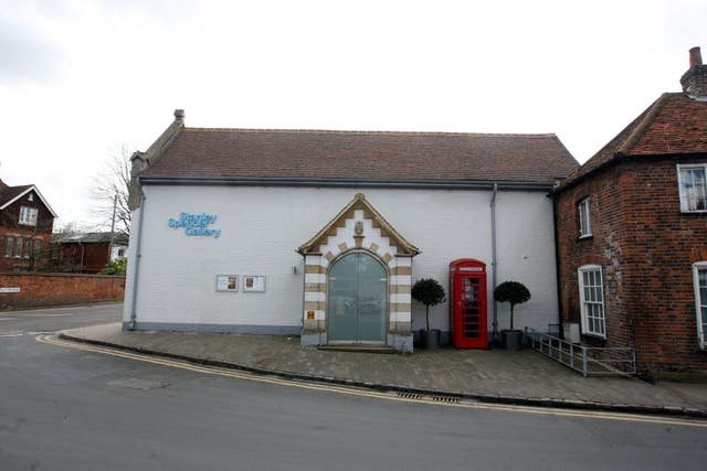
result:
[[[110,261],[123,258],[128,235],[123,233],[82,233],[52,235],[52,268],[56,271],[97,274]]]

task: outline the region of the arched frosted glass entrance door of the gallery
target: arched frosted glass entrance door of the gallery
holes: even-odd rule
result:
[[[351,253],[329,270],[328,340],[386,343],[388,276],[366,253]]]

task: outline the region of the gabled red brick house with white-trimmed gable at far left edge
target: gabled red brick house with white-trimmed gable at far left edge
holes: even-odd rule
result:
[[[36,186],[0,180],[0,270],[31,270],[49,259],[56,214]]]

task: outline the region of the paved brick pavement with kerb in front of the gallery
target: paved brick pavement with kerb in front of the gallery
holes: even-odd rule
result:
[[[707,383],[583,377],[530,349],[340,352],[302,347],[298,336],[127,332],[120,323],[66,330],[60,335],[293,379],[483,403],[707,418]]]

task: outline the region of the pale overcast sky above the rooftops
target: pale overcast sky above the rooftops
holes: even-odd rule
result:
[[[0,178],[92,221],[187,126],[555,132],[584,162],[707,56],[707,2],[0,0]]]

